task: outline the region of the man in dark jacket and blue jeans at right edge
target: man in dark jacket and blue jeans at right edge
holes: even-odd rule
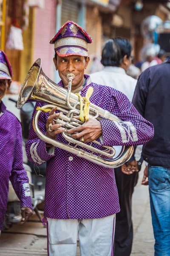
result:
[[[141,74],[132,103],[155,129],[142,149],[148,162],[142,184],[148,177],[155,256],[170,256],[170,58]]]

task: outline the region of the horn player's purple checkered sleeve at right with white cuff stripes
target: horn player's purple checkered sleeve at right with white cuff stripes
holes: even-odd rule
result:
[[[127,97],[116,91],[108,102],[108,111],[121,122],[102,119],[103,145],[143,145],[153,138],[153,125],[144,119]]]

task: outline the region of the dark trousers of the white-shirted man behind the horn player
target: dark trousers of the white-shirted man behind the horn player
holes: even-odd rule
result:
[[[130,256],[133,241],[132,194],[138,181],[138,172],[126,175],[119,167],[115,169],[115,177],[120,212],[116,214],[114,256]]]

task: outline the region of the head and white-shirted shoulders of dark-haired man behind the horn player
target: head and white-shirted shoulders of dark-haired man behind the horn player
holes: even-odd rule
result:
[[[102,50],[102,71],[91,74],[91,80],[124,93],[132,101],[137,80],[126,74],[133,56],[130,41],[113,38],[106,41]]]

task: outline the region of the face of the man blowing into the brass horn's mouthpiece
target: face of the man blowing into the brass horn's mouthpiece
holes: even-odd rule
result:
[[[85,59],[84,56],[71,55],[67,57],[59,57],[57,55],[57,61],[54,58],[54,64],[56,70],[59,72],[59,77],[62,79],[64,87],[68,88],[67,75],[69,73],[74,74],[75,78],[72,82],[72,88],[78,88],[82,85],[84,81],[85,69],[88,66],[90,58]]]

